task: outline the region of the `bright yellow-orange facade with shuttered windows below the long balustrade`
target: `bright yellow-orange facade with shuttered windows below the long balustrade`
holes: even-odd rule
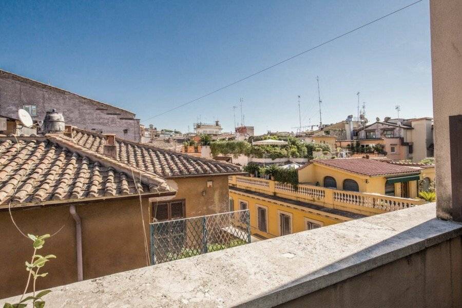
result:
[[[238,192],[235,192],[233,190],[229,190],[229,198],[233,199],[234,201],[234,210],[240,209],[239,201],[247,202],[251,218],[251,234],[259,235],[264,238],[273,238],[280,236],[279,214],[281,212],[292,214],[292,233],[306,230],[305,218],[309,218],[313,220],[315,223],[321,224],[322,226],[328,226],[331,224],[336,224],[348,220],[348,218],[345,218],[344,220],[327,218],[325,216],[308,213],[307,211],[304,211],[301,208],[296,208],[296,206],[288,207],[281,203],[257,199],[251,196],[239,194]],[[266,207],[267,232],[262,232],[258,229],[257,204]]]

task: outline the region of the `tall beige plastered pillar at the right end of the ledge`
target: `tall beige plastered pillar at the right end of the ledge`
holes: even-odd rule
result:
[[[462,142],[462,137],[455,136],[457,121],[455,124],[452,121],[450,129],[450,116],[462,114],[462,1],[430,0],[430,27],[436,215],[445,220],[462,221],[460,217],[462,153],[457,155],[457,148],[460,149],[457,145]]]

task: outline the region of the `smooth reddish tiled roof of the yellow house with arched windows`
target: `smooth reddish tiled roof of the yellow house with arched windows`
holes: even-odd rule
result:
[[[336,158],[313,161],[326,166],[342,169],[364,176],[418,173],[420,168],[399,166],[367,158]]]

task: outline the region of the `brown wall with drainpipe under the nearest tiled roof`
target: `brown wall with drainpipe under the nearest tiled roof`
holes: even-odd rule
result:
[[[138,199],[76,206],[82,219],[83,278],[92,279],[146,266],[140,203]],[[24,233],[53,234],[38,254],[56,255],[43,267],[49,274],[40,278],[40,287],[48,288],[77,281],[75,222],[69,206],[12,211]],[[143,215],[149,243],[147,199]],[[27,281],[25,261],[30,262],[32,241],[22,236],[10,220],[8,211],[0,212],[0,254],[2,283],[0,298],[20,294]]]

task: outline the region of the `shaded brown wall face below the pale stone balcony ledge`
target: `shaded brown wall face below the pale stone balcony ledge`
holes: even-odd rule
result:
[[[278,307],[461,307],[461,263],[459,236]]]

